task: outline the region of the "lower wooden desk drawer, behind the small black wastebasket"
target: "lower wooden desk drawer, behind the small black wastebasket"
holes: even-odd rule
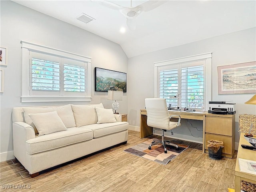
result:
[[[222,148],[222,153],[226,153],[226,154],[230,154],[230,155],[232,154],[232,137],[206,133],[205,134],[205,149],[206,150],[208,150],[207,141],[211,140],[211,139],[223,141],[224,148]]]

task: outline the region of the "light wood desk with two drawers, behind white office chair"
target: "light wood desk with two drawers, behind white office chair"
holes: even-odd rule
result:
[[[182,119],[203,121],[203,152],[208,153],[207,140],[224,142],[222,156],[232,158],[235,152],[235,115],[218,115],[208,112],[183,112],[169,110],[170,115],[180,115]],[[147,111],[140,110],[140,138],[153,134],[153,128],[147,125]]]

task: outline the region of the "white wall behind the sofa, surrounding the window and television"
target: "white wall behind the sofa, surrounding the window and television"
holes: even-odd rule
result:
[[[1,161],[13,158],[12,108],[17,106],[61,105],[58,103],[22,104],[20,40],[66,50],[92,58],[92,101],[111,108],[106,92],[94,92],[94,67],[127,72],[128,58],[120,45],[95,34],[46,16],[12,1],[0,1],[1,47],[8,48],[8,66],[4,70],[4,93],[0,94],[0,154]],[[129,90],[128,90],[129,91]],[[127,113],[127,96],[120,101],[118,112]],[[80,102],[82,103],[82,102]],[[77,104],[77,102],[75,103]]]

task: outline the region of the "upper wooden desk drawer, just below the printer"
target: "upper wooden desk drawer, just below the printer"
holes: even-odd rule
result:
[[[205,117],[205,132],[218,135],[232,136],[232,118],[228,117]]]

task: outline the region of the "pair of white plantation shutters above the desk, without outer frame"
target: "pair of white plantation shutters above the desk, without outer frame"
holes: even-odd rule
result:
[[[160,66],[158,70],[158,96],[166,99],[168,107],[205,106],[204,60]]]

